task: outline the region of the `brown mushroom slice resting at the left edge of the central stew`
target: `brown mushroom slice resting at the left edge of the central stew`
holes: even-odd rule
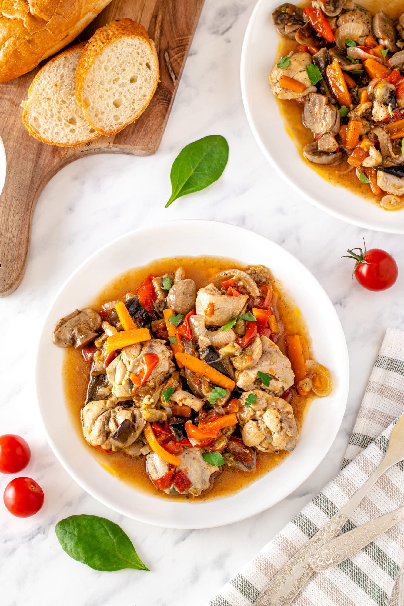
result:
[[[56,322],[52,341],[58,347],[82,347],[98,336],[101,316],[92,309],[76,309],[69,316]]]

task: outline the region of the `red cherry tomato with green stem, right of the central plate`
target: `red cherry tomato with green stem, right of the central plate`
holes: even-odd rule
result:
[[[356,261],[352,278],[355,278],[363,288],[368,290],[386,290],[390,288],[397,280],[399,268],[396,261],[389,253],[380,248],[371,248],[366,251],[365,241],[362,248],[353,248],[348,250],[349,259]],[[355,253],[358,250],[359,253]]]

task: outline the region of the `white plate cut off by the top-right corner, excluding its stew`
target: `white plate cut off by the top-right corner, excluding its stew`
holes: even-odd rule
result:
[[[376,231],[404,233],[404,210],[383,210],[348,189],[332,185],[300,158],[268,84],[278,49],[272,11],[280,4],[280,0],[258,0],[241,52],[241,93],[258,145],[284,181],[329,215]]]

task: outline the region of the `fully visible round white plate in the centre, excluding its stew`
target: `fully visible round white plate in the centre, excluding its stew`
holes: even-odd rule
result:
[[[252,231],[212,221],[175,221],[132,231],[90,256],[56,295],[39,342],[36,382],[49,444],[84,490],[130,518],[173,528],[208,528],[253,516],[288,496],[315,470],[337,435],[346,406],[348,351],[337,313],[323,288],[290,253]],[[195,237],[197,234],[197,237]],[[150,242],[153,243],[150,246]],[[240,248],[239,242],[243,242]],[[297,448],[271,473],[244,490],[215,501],[174,502],[136,491],[114,478],[87,451],[70,422],[62,393],[63,350],[52,344],[59,318],[84,307],[112,278],[153,259],[214,251],[251,264],[268,265],[292,293],[305,317],[316,358],[332,372],[334,389],[315,399]]]

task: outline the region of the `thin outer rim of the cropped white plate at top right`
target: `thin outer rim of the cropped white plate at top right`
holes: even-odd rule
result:
[[[249,41],[251,39],[251,33],[254,28],[255,21],[257,19],[257,15],[258,15],[258,13],[260,13],[261,6],[264,4],[264,2],[265,2],[265,0],[257,0],[254,10],[251,13],[249,21],[247,23],[246,31],[244,33],[243,45],[241,47],[241,56],[240,56],[241,98],[243,99],[243,107],[244,107],[244,112],[246,113],[247,122],[249,124],[249,127],[251,128],[252,135],[254,136],[254,139],[257,142],[258,147],[262,151],[264,157],[267,159],[269,164],[271,164],[272,168],[274,168],[274,170],[283,179],[283,181],[285,181],[289,185],[289,187],[292,188],[292,190],[294,190],[296,193],[298,193],[298,195],[302,196],[302,198],[304,198],[307,202],[310,202],[310,204],[312,204],[319,210],[322,210],[323,212],[335,217],[336,219],[339,219],[340,221],[343,221],[343,222],[351,224],[351,225],[356,225],[357,227],[362,227],[362,228],[372,230],[375,232],[380,232],[380,233],[391,233],[394,235],[403,235],[404,227],[397,230],[397,228],[394,225],[394,221],[392,221],[391,226],[383,225],[382,227],[375,227],[374,222],[366,221],[365,216],[363,217],[363,220],[356,219],[356,218],[348,218],[345,215],[345,213],[339,212],[338,210],[335,210],[334,208],[329,208],[320,199],[314,198],[314,196],[311,196],[309,193],[306,193],[306,191],[302,190],[297,184],[295,184],[295,182],[292,181],[291,178],[289,178],[288,173],[286,173],[286,171],[281,167],[281,165],[277,163],[275,157],[273,157],[267,150],[266,145],[264,144],[263,139],[261,138],[260,132],[254,122],[251,106],[250,106],[249,100],[248,100],[248,93],[247,93],[247,86],[246,86],[247,53],[248,53],[248,49],[249,49]],[[289,136],[288,133],[286,133],[286,132],[285,132],[285,135]],[[292,141],[292,143],[295,145],[294,141]],[[297,147],[297,146],[295,146],[295,147]],[[326,181],[326,179],[325,179],[325,181]],[[348,189],[343,188],[341,186],[335,185],[334,187],[338,187],[338,189],[341,189],[343,191],[349,191]],[[354,195],[354,194],[352,193],[352,195]],[[359,198],[359,196],[357,196],[357,197]],[[368,202],[368,204],[372,204],[372,203]],[[397,209],[397,211],[399,211],[399,210],[401,210],[401,209]],[[385,212],[388,213],[389,211],[385,211]],[[390,211],[390,214],[392,214],[392,211]]]

